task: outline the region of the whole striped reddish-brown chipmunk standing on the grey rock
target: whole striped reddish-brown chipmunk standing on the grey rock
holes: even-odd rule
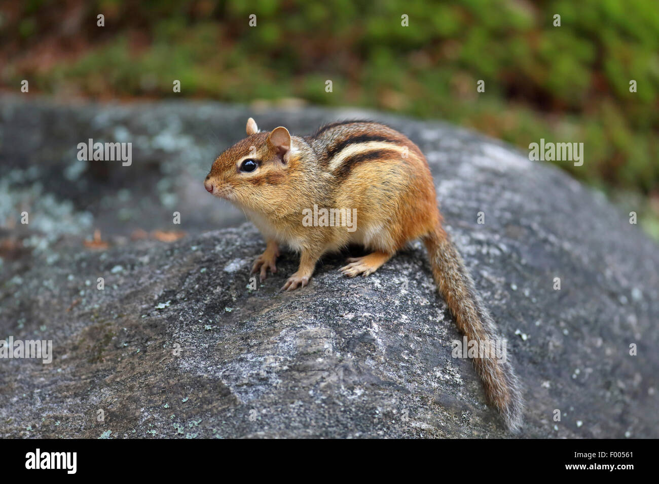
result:
[[[311,136],[291,136],[283,127],[261,132],[247,121],[247,138],[215,159],[204,186],[243,209],[266,239],[252,273],[277,271],[279,246],[299,252],[300,264],[281,288],[308,284],[316,262],[348,244],[370,250],[339,269],[369,275],[405,244],[420,238],[430,267],[457,327],[468,340],[496,340],[494,321],[474,288],[449,235],[442,228],[435,185],[420,149],[405,135],[372,121],[331,122]],[[310,207],[357,209],[356,230],[308,227]],[[523,400],[513,367],[494,358],[473,358],[488,400],[511,431],[521,425]]]

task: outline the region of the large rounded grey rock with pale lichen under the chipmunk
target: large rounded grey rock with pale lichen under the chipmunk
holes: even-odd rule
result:
[[[29,254],[0,266],[0,338],[53,341],[50,364],[0,360],[0,437],[509,436],[469,361],[451,358],[460,336],[420,244],[366,278],[339,275],[347,252],[326,257],[310,286],[281,294],[297,257],[283,254],[251,290],[262,238],[249,224],[217,230],[239,214],[202,180],[248,116],[306,133],[363,112],[3,98],[0,115],[3,220],[32,203],[19,234]],[[656,245],[601,196],[500,142],[366,115],[428,157],[447,229],[525,386],[521,436],[659,437]],[[65,173],[78,142],[103,137],[136,144],[131,167]],[[188,236],[125,237],[131,223],[172,229],[174,210]],[[110,248],[82,248],[99,225]]]

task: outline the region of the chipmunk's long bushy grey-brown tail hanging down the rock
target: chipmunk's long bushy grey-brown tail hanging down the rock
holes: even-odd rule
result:
[[[423,238],[435,282],[455,317],[457,328],[469,341],[498,340],[496,327],[474,288],[462,257],[448,234],[438,227]],[[512,365],[494,358],[472,358],[490,403],[496,406],[507,427],[515,432],[522,422],[524,403]]]

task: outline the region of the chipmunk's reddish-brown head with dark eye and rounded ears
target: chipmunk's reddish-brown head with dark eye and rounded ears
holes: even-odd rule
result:
[[[286,203],[289,173],[298,161],[291,134],[283,126],[260,132],[250,118],[247,135],[215,159],[204,186],[210,194],[242,207],[276,211]]]

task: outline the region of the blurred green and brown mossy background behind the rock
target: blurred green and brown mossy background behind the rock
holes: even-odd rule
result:
[[[657,0],[0,5],[2,92],[29,78],[30,94],[58,101],[367,107],[442,119],[526,152],[540,138],[583,142],[583,166],[556,164],[637,211],[659,240]]]

